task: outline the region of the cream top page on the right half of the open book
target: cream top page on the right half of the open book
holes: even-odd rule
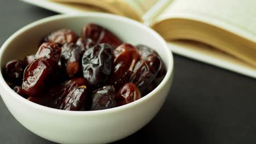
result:
[[[255,0],[174,0],[154,23],[177,17],[211,23],[256,41]]]

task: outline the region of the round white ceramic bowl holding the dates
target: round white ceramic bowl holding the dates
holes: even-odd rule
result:
[[[123,139],[146,125],[160,110],[171,87],[173,57],[164,41],[152,29],[125,17],[88,13],[51,16],[21,28],[0,49],[0,64],[35,53],[42,37],[60,28],[80,34],[87,23],[108,28],[123,41],[144,44],[156,50],[167,67],[158,87],[145,97],[120,107],[100,111],[63,111],[28,101],[7,85],[0,72],[0,94],[12,115],[34,134],[59,143],[108,143]]]

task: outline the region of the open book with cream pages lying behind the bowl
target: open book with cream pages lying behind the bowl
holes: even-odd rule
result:
[[[174,53],[256,78],[255,0],[22,1],[58,13],[130,17],[152,27]]]

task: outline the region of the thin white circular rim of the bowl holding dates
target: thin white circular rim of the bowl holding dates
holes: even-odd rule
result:
[[[5,89],[7,92],[10,93],[9,97],[14,97],[14,99],[18,100],[20,103],[25,103],[26,105],[30,105],[34,109],[48,111],[48,112],[52,112],[52,113],[65,114],[65,115],[98,115],[98,114],[102,115],[102,114],[106,114],[106,113],[113,113],[113,112],[117,112],[117,111],[127,110],[135,105],[139,105],[139,104],[143,103],[143,101],[146,101],[146,100],[150,99],[151,97],[154,97],[156,92],[158,92],[162,87],[164,87],[164,85],[166,85],[168,79],[172,79],[172,75],[173,75],[172,52],[168,48],[166,41],[158,33],[156,33],[153,29],[143,25],[142,23],[139,23],[138,21],[129,19],[127,17],[113,15],[113,14],[106,14],[106,13],[96,13],[96,12],[83,13],[83,14],[58,14],[58,15],[49,16],[49,17],[45,17],[44,19],[34,21],[34,22],[20,28],[18,31],[16,31],[14,34],[12,34],[2,45],[2,47],[0,49],[0,65],[2,63],[2,56],[3,56],[4,51],[7,49],[9,43],[11,43],[15,39],[15,37],[18,37],[20,34],[26,32],[28,29],[33,28],[34,26],[41,25],[43,23],[48,23],[50,21],[67,19],[67,18],[71,18],[71,17],[98,17],[98,18],[100,18],[100,17],[106,18],[107,17],[107,19],[115,19],[115,20],[119,20],[119,21],[124,21],[124,22],[129,23],[130,25],[136,25],[139,28],[145,29],[150,34],[154,35],[154,37],[160,41],[160,43],[164,46],[164,47],[162,47],[162,49],[164,49],[166,51],[168,65],[166,65],[167,71],[166,71],[166,75],[165,75],[164,79],[160,82],[160,84],[155,89],[153,89],[152,92],[145,95],[141,99],[133,101],[130,104],[113,107],[111,109],[96,110],[96,111],[65,111],[65,110],[59,110],[59,109],[54,109],[51,107],[42,106],[42,105],[33,103],[32,101],[29,101],[25,98],[20,97],[19,94],[15,93],[7,85],[7,82],[3,78],[2,70],[0,70],[0,86],[3,89]],[[3,65],[1,65],[1,67],[3,67]],[[1,94],[1,97],[3,97],[2,94]]]

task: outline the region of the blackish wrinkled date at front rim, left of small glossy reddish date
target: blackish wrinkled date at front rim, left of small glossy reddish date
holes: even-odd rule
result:
[[[92,94],[92,105],[90,110],[104,110],[115,107],[115,95],[115,88],[112,85],[97,89]]]

